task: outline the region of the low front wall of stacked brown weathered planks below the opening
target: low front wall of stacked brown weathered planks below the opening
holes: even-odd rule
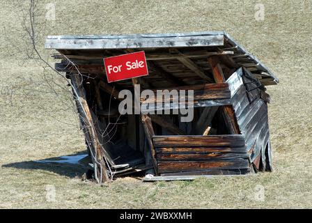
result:
[[[244,136],[154,136],[159,174],[221,174],[247,171]],[[181,173],[181,174],[182,174]]]

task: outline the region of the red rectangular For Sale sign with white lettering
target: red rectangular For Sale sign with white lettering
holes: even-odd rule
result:
[[[104,58],[107,82],[148,75],[148,67],[143,51]]]

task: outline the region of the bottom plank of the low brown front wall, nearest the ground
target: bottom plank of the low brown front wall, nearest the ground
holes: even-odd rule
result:
[[[158,171],[162,173],[198,171],[209,169],[244,169],[249,167],[248,160],[216,160],[216,161],[159,161]]]

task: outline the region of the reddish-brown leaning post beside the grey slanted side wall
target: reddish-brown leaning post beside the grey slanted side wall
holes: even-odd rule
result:
[[[226,79],[224,78],[224,74],[221,69],[221,63],[219,62],[219,58],[217,56],[210,56],[208,58],[208,61],[212,69],[214,81],[216,83],[226,82]],[[240,134],[240,128],[238,127],[232,105],[226,105],[222,107],[222,110],[224,113],[224,118],[226,119],[226,125],[230,129],[231,133]]]

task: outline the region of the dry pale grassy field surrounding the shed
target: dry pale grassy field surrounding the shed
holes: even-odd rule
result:
[[[32,162],[85,146],[70,98],[48,84],[65,82],[18,50],[29,43],[14,2],[0,0],[0,208],[312,208],[312,1],[42,1],[41,10],[56,8],[38,36],[44,56],[47,35],[224,30],[280,79],[267,87],[272,173],[169,183],[127,177],[102,186],[81,181],[79,168]],[[256,3],[264,20],[254,16]],[[257,199],[262,186],[265,198]]]

